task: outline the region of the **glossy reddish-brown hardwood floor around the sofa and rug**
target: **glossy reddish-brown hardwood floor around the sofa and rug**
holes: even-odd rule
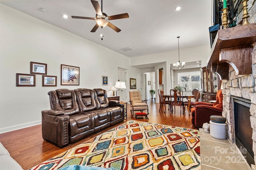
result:
[[[180,114],[180,109],[178,108],[178,106],[176,107],[176,111],[174,111],[173,113],[170,113],[168,111],[168,107],[166,107],[166,113],[164,113],[164,108],[162,108],[162,110],[159,112],[160,104],[154,103],[153,99],[148,101],[148,106],[150,113],[148,115],[148,119],[144,119],[144,117],[137,117],[137,119],[135,119],[135,116],[134,118],[131,117],[130,104],[128,104],[127,120],[133,119],[139,121],[147,121],[151,123],[186,127],[190,129],[198,129],[191,124],[191,116],[188,115],[187,108],[185,114]],[[122,123],[119,123],[118,125]],[[113,127],[102,131],[102,133],[108,131],[109,129],[112,129]],[[72,143],[67,147],[59,148],[52,143],[44,141],[42,138],[42,126],[36,125],[16,131],[2,133],[0,134],[0,142],[9,151],[12,158],[14,158],[14,160],[16,160],[20,164],[20,166],[22,166],[22,168],[26,170],[97,135],[98,134],[94,134],[86,139],[83,139],[76,143]]]

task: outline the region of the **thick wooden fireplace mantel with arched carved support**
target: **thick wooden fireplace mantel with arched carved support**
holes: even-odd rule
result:
[[[214,39],[207,67],[228,80],[228,64],[236,75],[252,73],[252,44],[256,42],[256,23],[220,29]]]

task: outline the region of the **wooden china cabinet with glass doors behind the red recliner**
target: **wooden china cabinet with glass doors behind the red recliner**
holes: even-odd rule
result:
[[[202,68],[203,74],[203,92],[202,102],[210,103],[210,100],[216,100],[216,93],[220,89],[220,78],[211,68]]]

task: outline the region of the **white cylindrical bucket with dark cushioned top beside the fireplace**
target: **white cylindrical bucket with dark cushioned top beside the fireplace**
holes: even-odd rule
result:
[[[210,121],[210,135],[217,139],[226,139],[227,123],[216,123]]]

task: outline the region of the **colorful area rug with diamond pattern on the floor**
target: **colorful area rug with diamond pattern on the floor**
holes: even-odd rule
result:
[[[113,170],[200,170],[199,131],[130,120],[31,170],[69,165]]]

